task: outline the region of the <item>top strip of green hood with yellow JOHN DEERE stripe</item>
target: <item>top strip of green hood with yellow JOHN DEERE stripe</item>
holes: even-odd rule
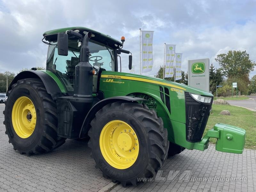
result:
[[[113,72],[113,71],[104,71],[102,73],[101,77],[110,78],[110,79],[127,79],[127,80],[147,82],[147,83],[152,83],[152,84],[159,84],[159,85],[164,85],[164,86],[184,90],[184,91],[190,92],[190,93],[195,93],[198,95],[213,97],[213,95],[211,93],[206,92],[204,90],[190,87],[185,84],[176,83],[173,81],[168,81],[168,80],[164,80],[164,79],[160,79],[160,78],[156,78],[156,77],[151,77],[151,76],[144,76],[144,75],[137,75],[137,74],[130,74],[130,73],[120,73],[120,72]]]

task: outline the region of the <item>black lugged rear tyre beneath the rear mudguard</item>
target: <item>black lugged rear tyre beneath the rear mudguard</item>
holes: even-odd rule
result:
[[[28,98],[32,102],[36,113],[34,130],[30,135],[28,134],[29,136],[24,137],[22,137],[22,131],[17,131],[17,129],[21,129],[21,126],[16,124],[16,121],[22,116],[22,113],[19,115],[19,110],[16,110],[16,107],[14,107],[14,105],[18,105],[15,104],[15,101],[19,98]],[[12,117],[12,113],[16,119]],[[60,147],[66,140],[57,136],[58,117],[56,102],[47,93],[40,79],[21,79],[12,85],[12,89],[8,92],[8,100],[5,102],[4,124],[6,127],[5,134],[9,137],[9,143],[12,143],[13,149],[17,149],[20,154],[46,153]]]

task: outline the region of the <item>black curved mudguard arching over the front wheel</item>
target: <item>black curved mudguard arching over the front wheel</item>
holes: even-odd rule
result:
[[[137,101],[146,101],[146,99],[142,99],[142,98],[139,98],[139,97],[129,97],[129,96],[109,97],[107,99],[103,99],[103,100],[99,101],[87,113],[87,115],[84,119],[84,123],[83,123],[82,128],[81,128],[81,131],[80,131],[79,138],[83,139],[83,138],[86,137],[87,132],[90,129],[90,123],[91,123],[92,119],[95,117],[95,114],[100,109],[102,109],[105,105],[107,105],[109,103],[113,103],[113,102],[116,102],[116,101],[122,101],[122,100],[127,101],[127,102],[136,102],[136,103],[137,103]]]

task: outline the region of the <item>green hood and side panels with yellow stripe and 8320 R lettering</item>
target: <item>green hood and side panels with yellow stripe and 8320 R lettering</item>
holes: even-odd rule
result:
[[[171,113],[160,97],[159,86],[167,88],[170,93]],[[144,93],[156,100],[157,116],[164,121],[168,130],[168,139],[182,147],[193,149],[195,143],[186,140],[186,112],[184,92],[213,96],[211,93],[187,85],[166,81],[159,78],[129,73],[103,71],[100,78],[100,91],[105,98],[125,96],[131,93]]]

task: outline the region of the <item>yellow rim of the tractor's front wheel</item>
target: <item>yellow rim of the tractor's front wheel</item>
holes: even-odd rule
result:
[[[100,151],[112,167],[127,169],[135,163],[139,155],[138,137],[124,121],[110,121],[100,133]]]

